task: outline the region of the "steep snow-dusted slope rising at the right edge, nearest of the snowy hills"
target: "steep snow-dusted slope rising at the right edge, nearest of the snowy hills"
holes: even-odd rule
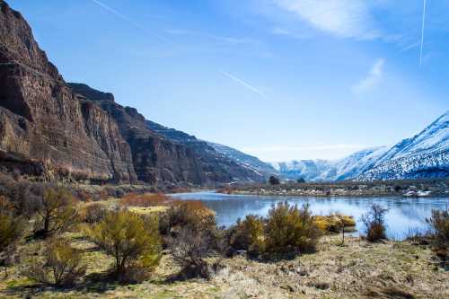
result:
[[[357,180],[418,179],[449,176],[449,111],[418,135],[404,139],[379,157]]]

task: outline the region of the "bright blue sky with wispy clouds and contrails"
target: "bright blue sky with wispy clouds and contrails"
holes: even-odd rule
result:
[[[8,3],[67,82],[265,161],[393,144],[448,109],[448,1],[427,0],[422,59],[422,0]]]

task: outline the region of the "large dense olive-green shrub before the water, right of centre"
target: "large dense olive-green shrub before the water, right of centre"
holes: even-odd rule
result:
[[[280,256],[314,251],[320,234],[308,206],[278,203],[269,210],[266,251]]]

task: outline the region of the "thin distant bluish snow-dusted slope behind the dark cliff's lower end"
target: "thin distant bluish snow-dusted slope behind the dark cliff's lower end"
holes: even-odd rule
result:
[[[242,153],[226,145],[219,145],[213,142],[208,142],[207,145],[212,146],[217,153],[225,155],[227,158],[239,163],[243,167],[260,173],[260,175],[268,178],[270,175],[279,175],[278,171],[273,168],[269,163],[264,163],[259,158],[250,154]]]

